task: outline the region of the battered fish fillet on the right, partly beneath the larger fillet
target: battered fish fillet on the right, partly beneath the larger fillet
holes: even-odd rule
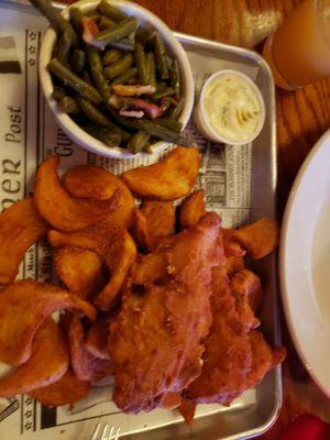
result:
[[[243,297],[238,301],[238,290],[233,289],[237,284],[231,285],[222,267],[213,268],[213,322],[205,341],[202,371],[185,392],[194,403],[229,405],[284,360],[284,349],[271,348],[255,326],[248,326]],[[246,297],[245,310],[248,300]]]

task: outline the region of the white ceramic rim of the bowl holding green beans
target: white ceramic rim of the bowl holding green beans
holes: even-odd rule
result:
[[[70,8],[75,7],[81,9],[81,11],[84,12],[90,12],[97,8],[99,2],[100,0],[80,0],[72,4]],[[185,98],[185,106],[180,113],[179,121],[182,122],[183,128],[185,128],[190,118],[194,106],[194,79],[188,57],[182,44],[173,36],[172,31],[166,26],[166,24],[146,9],[140,7],[139,4],[124,0],[111,0],[111,3],[116,4],[125,14],[136,16],[142,25],[153,28],[158,31],[168,48],[168,52],[178,59],[183,85],[183,97]],[[66,8],[62,12],[65,19],[68,18],[68,11],[69,8]],[[52,28],[48,28],[41,47],[40,78],[45,99],[48,102],[48,106],[53,111],[61,128],[73,141],[82,146],[82,148],[88,150],[92,153],[113,158],[136,157],[136,155],[130,153],[127,148],[110,148],[106,146],[101,141],[92,138],[80,127],[78,127],[67,113],[63,112],[59,109],[56,100],[52,96],[54,89],[53,81],[47,70],[47,64],[52,59],[52,53],[55,43],[56,33]],[[153,145],[153,151],[160,152],[164,150],[167,145],[167,142],[157,142]]]

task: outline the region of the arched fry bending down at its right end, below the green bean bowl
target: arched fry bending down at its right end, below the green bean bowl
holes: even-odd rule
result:
[[[113,226],[129,228],[132,223],[134,198],[127,185],[114,174],[95,165],[75,166],[64,175],[64,186],[74,197],[107,200],[118,195],[118,209],[112,212]]]

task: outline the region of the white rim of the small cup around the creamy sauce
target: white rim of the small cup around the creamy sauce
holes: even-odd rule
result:
[[[237,76],[237,77],[244,79],[250,85],[250,87],[253,89],[253,91],[260,102],[261,116],[260,116],[260,121],[258,121],[257,128],[254,131],[254,133],[251,136],[244,139],[244,141],[234,141],[232,139],[227,139],[226,135],[221,135],[220,133],[218,133],[211,125],[209,116],[205,109],[205,99],[204,98],[205,98],[205,91],[207,89],[207,86],[210,82],[212,82],[213,80],[216,80],[219,77],[224,76],[224,75]],[[252,142],[262,131],[262,128],[265,123],[264,99],[263,99],[263,96],[262,96],[260,89],[257,88],[257,86],[253,82],[253,80],[248,75],[243,74],[242,72],[233,70],[233,69],[219,70],[219,72],[216,72],[213,75],[211,75],[202,85],[199,100],[198,100],[198,103],[197,103],[195,112],[194,112],[194,120],[195,120],[199,131],[210,141],[216,142],[216,143],[226,143],[226,144],[230,144],[230,145],[244,145],[244,144]]]

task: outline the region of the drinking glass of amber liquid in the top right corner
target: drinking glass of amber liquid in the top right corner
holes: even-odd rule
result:
[[[263,56],[287,90],[330,76],[330,0],[305,0],[267,38]]]

